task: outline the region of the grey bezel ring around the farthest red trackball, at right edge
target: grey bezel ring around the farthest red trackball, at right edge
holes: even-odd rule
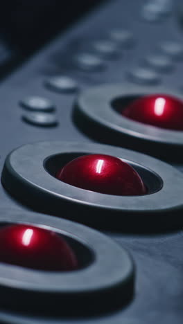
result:
[[[180,160],[183,132],[145,125],[123,115],[112,107],[115,99],[138,98],[165,93],[183,100],[183,95],[165,87],[142,87],[129,83],[105,84],[87,89],[78,96],[73,118],[76,124],[97,141],[148,152],[164,159]]]

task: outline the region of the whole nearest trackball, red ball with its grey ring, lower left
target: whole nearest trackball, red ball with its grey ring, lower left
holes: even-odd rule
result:
[[[10,225],[5,227],[7,222]],[[110,309],[126,305],[134,294],[132,258],[122,246],[91,227],[62,217],[1,208],[0,233],[4,243],[1,258],[12,257],[10,264],[0,258],[2,306],[6,312],[16,308],[15,321],[12,316],[9,323],[26,323],[22,309],[25,314],[35,314],[35,323],[40,323],[41,316],[48,316],[53,323],[55,314],[59,323],[65,316],[78,318],[83,309],[87,315],[101,314],[106,305]],[[18,267],[14,265],[17,260],[21,261]],[[36,267],[30,268],[33,262]],[[48,267],[43,269],[44,265]],[[0,321],[4,323],[1,314]]]

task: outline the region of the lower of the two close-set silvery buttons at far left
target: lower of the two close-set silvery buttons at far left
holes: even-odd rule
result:
[[[55,118],[55,115],[48,113],[42,114],[30,112],[24,114],[22,119],[28,124],[42,127],[53,127],[58,124],[58,120]]]

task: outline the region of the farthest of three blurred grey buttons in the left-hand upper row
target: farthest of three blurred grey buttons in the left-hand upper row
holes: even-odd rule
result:
[[[131,47],[134,44],[134,36],[130,30],[114,29],[110,31],[110,37],[123,47]]]

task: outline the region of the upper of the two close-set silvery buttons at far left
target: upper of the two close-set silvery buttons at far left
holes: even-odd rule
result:
[[[46,98],[31,96],[20,101],[20,105],[27,110],[33,111],[52,111],[53,102]]]

